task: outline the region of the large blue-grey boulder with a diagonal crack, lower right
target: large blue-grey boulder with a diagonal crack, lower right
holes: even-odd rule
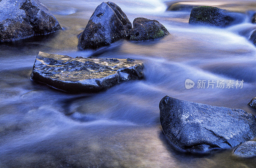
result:
[[[233,148],[256,136],[256,118],[241,109],[210,106],[165,96],[159,104],[166,138],[181,150]]]

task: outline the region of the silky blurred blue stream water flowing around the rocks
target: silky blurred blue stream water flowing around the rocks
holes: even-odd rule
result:
[[[231,150],[209,155],[177,152],[164,137],[159,101],[169,95],[215,106],[241,108],[256,97],[256,24],[245,14],[255,1],[204,1],[241,12],[227,28],[192,26],[189,11],[165,11],[160,0],[113,0],[130,21],[156,19],[170,35],[156,41],[118,41],[97,51],[78,51],[83,31],[101,1],[41,0],[63,30],[0,45],[0,167],[255,167]],[[29,79],[39,51],[76,56],[132,58],[145,78],[95,94],[66,94]],[[195,82],[185,88],[185,80]],[[196,88],[198,80],[244,80],[243,88]],[[206,85],[207,86],[207,85]],[[216,85],[215,85],[216,86]]]

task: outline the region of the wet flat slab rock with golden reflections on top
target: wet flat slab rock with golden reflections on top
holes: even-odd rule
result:
[[[72,58],[39,52],[31,79],[71,92],[95,92],[143,77],[143,65],[132,59]]]

